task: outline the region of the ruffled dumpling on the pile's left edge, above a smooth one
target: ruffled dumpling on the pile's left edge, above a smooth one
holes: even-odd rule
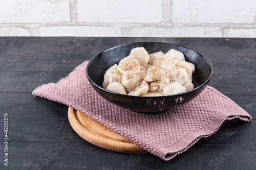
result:
[[[106,88],[106,86],[108,86],[110,83],[113,83],[113,82],[121,83],[121,80],[122,80],[122,75],[117,70],[117,64],[115,64],[112,67],[110,67],[108,70],[106,70],[102,86],[103,88]]]

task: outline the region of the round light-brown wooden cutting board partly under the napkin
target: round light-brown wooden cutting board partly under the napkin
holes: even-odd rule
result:
[[[72,107],[69,107],[68,117],[70,125],[79,136],[100,148],[131,154],[146,152],[130,140],[104,127]]]

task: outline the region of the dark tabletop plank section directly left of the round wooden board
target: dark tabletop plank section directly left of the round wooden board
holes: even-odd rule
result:
[[[0,120],[3,122],[3,116]],[[9,141],[16,142],[56,142],[60,137],[69,142],[84,142],[70,126],[68,117],[12,116],[8,112],[8,134]],[[3,139],[4,136],[0,140]]]

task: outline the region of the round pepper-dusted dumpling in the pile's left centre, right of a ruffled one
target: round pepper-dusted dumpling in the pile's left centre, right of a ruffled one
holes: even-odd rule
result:
[[[130,92],[132,89],[137,87],[140,84],[140,82],[140,75],[133,70],[128,70],[124,72],[121,79],[121,84],[124,86],[127,92]]]

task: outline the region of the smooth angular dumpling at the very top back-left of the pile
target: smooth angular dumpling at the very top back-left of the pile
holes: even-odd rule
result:
[[[150,59],[150,56],[143,47],[133,48],[130,56],[133,56],[143,67],[146,67],[148,60]]]

